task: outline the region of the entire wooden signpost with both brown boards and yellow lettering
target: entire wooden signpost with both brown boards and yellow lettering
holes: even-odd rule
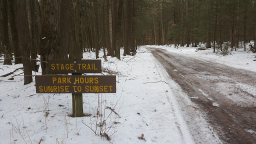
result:
[[[115,75],[82,75],[81,73],[101,73],[100,59],[81,59],[82,53],[74,50],[72,60],[48,60],[51,75],[36,75],[36,93],[72,93],[73,117],[83,116],[82,93],[115,93]],[[72,73],[72,75],[59,75]],[[52,75],[58,74],[58,75]]]

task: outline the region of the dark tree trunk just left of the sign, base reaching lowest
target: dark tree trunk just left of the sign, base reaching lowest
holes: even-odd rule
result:
[[[32,70],[30,62],[30,50],[29,50],[29,27],[28,27],[28,15],[26,10],[26,0],[18,0],[18,11],[17,11],[17,31],[18,31],[18,41],[19,48],[21,51],[21,56],[24,69],[24,84],[28,84],[32,81]],[[28,76],[29,75],[29,76]]]

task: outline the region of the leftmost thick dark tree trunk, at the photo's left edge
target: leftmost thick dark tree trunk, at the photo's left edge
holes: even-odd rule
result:
[[[4,61],[3,64],[10,64],[10,57],[12,55],[9,54],[9,33],[8,33],[8,3],[7,0],[2,0],[2,15],[3,15],[3,47],[4,47]]]

